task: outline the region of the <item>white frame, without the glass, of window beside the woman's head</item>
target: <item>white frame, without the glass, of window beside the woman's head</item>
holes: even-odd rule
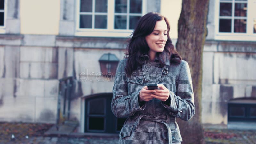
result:
[[[130,1],[130,0],[129,0]],[[128,2],[129,3],[129,2]],[[129,15],[140,15],[143,16],[146,14],[146,5],[147,0],[142,0],[142,14],[134,14],[128,13]],[[128,4],[129,6],[129,4]],[[127,9],[129,11],[129,7]],[[95,8],[95,0],[93,0],[93,9]],[[107,10],[107,29],[95,29],[94,27],[94,19],[92,19],[92,28],[79,28],[80,23],[80,13],[84,14],[102,14],[102,13],[94,13],[92,12],[80,12],[80,0],[77,0],[77,8],[78,12],[76,12],[76,32],[75,36],[90,36],[90,37],[129,37],[132,34],[133,30],[129,30],[129,25],[127,25],[128,29],[114,29],[114,17],[115,17],[115,0],[108,0],[108,10]],[[122,15],[119,14],[118,15]],[[127,14],[125,14],[127,15]],[[129,19],[127,20],[127,23]]]

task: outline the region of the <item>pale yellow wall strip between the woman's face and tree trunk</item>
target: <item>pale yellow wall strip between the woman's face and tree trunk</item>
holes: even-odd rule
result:
[[[178,20],[181,12],[182,0],[161,0],[161,14],[170,22],[170,37],[178,38]]]

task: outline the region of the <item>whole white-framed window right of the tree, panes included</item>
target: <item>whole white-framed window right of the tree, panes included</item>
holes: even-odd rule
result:
[[[255,41],[254,0],[219,0],[216,39]]]

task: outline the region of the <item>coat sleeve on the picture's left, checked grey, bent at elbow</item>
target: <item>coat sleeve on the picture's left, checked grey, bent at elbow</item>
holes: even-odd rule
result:
[[[127,74],[125,73],[125,60],[121,60],[116,71],[116,77],[113,86],[113,99],[111,101],[111,110],[116,117],[127,117],[134,115],[137,111],[143,110],[138,101],[140,90],[128,94]]]

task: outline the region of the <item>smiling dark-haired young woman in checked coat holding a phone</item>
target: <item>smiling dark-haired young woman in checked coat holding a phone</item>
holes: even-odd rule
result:
[[[176,118],[195,113],[188,63],[181,59],[169,36],[168,20],[158,13],[140,18],[120,61],[111,108],[116,117],[128,117],[119,143],[181,143]],[[149,84],[158,88],[148,89]]]

